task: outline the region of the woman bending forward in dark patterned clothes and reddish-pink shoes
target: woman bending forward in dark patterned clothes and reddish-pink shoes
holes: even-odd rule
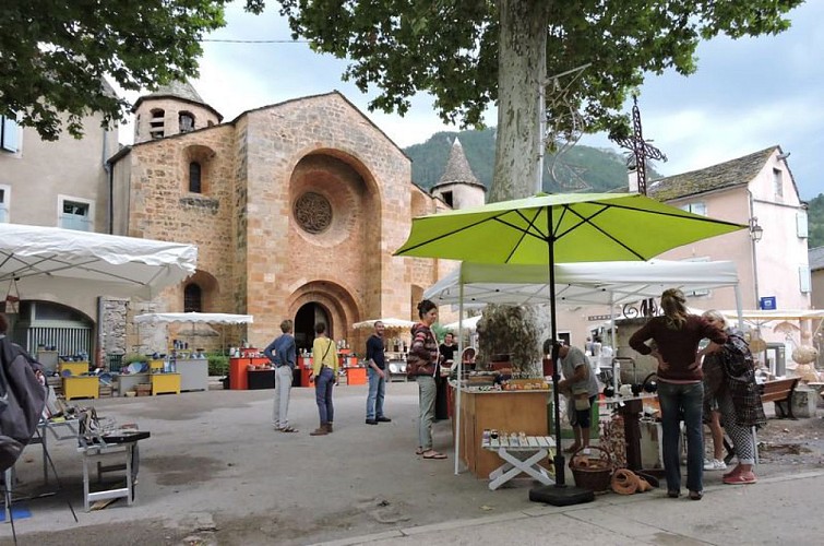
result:
[[[703,353],[704,368],[715,369],[720,381],[712,385],[708,396],[715,397],[721,423],[736,448],[738,465],[724,475],[725,484],[754,484],[756,482],[755,438],[752,427],[766,423],[764,406],[755,384],[755,366],[750,347],[741,332],[727,325],[724,314],[716,310],[706,311],[704,319],[710,324],[725,330],[727,343]]]

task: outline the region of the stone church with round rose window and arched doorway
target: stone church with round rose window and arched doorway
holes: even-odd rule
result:
[[[110,161],[115,233],[199,248],[195,275],[151,310],[252,314],[242,332],[252,346],[265,346],[288,318],[299,348],[325,321],[332,339],[358,351],[369,331],[355,322],[417,318],[423,290],[455,263],[392,256],[411,218],[483,203],[459,143],[433,197],[413,183],[404,152],[338,92],[226,122],[178,83],[142,96],[133,114],[134,144]]]

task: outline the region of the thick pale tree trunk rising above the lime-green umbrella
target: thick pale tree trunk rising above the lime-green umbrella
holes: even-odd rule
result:
[[[547,75],[550,4],[551,0],[498,1],[498,134],[490,203],[538,191],[544,115],[539,103]]]

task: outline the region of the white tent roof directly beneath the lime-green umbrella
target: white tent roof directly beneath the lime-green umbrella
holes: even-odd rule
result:
[[[499,265],[463,262],[423,293],[437,305],[457,304],[458,280],[465,304],[544,304],[549,300],[546,265]],[[729,261],[581,262],[556,265],[556,300],[610,305],[658,297],[667,288],[684,292],[736,286],[738,273]]]

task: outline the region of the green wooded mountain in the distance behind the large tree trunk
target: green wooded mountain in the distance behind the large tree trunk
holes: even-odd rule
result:
[[[404,150],[413,161],[413,181],[429,190],[443,175],[455,136],[461,139],[466,159],[478,178],[489,188],[495,157],[494,128],[481,131],[439,132],[423,144]],[[554,174],[554,176],[551,175]],[[660,175],[649,169],[649,179]],[[544,191],[601,192],[626,188],[626,162],[613,150],[576,145],[558,157],[544,162]]]

